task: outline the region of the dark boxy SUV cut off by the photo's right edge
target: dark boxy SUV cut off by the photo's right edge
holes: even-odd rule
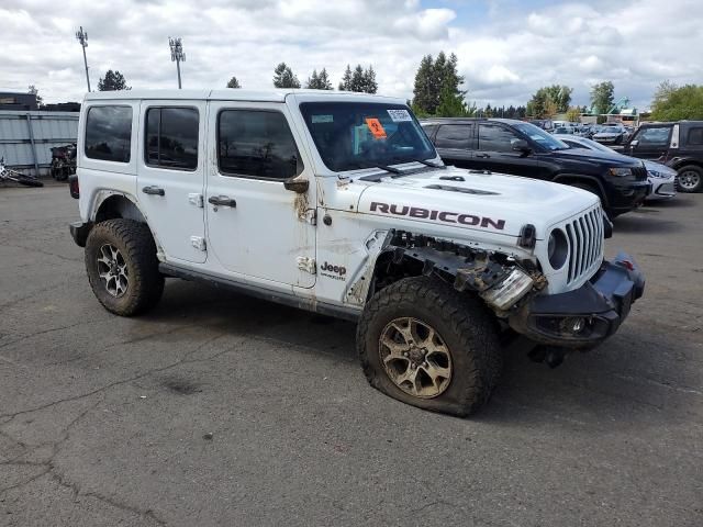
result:
[[[703,121],[643,124],[625,154],[673,168],[681,192],[703,191]]]

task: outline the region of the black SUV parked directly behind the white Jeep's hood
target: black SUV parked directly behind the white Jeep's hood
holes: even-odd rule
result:
[[[447,165],[579,187],[613,217],[639,206],[649,190],[637,159],[569,148],[544,130],[512,119],[431,119],[425,132]]]

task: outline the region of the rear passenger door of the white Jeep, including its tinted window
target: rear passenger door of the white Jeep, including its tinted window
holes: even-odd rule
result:
[[[140,204],[169,260],[202,264],[205,103],[143,102],[140,123]]]

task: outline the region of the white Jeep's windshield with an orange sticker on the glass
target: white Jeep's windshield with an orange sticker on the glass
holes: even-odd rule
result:
[[[330,170],[382,168],[437,157],[404,104],[304,102],[300,111]]]

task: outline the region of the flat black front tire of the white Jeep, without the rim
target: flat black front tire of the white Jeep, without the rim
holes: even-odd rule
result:
[[[383,328],[399,317],[429,324],[451,356],[448,386],[433,399],[401,390],[389,377],[380,356]],[[468,416],[488,402],[503,366],[500,329],[483,302],[449,284],[426,277],[406,278],[378,292],[366,305],[357,326],[357,350],[371,386],[403,403]]]

